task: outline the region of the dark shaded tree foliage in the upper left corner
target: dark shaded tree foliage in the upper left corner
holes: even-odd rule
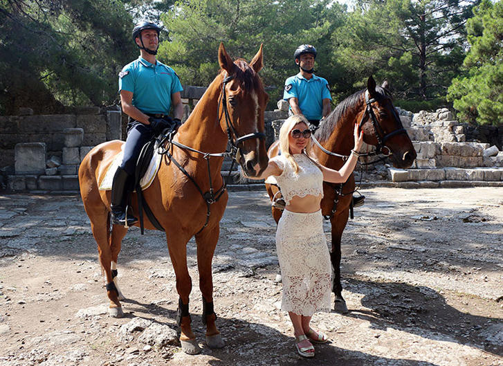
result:
[[[134,54],[131,16],[114,0],[0,3],[0,104],[36,112],[112,102]]]

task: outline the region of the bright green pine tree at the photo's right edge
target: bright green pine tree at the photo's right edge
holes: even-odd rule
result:
[[[478,124],[502,124],[503,116],[503,1],[484,0],[468,21],[470,51],[464,75],[448,89],[457,115]]]

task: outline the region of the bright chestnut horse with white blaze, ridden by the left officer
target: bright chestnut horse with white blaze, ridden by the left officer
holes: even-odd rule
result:
[[[220,44],[218,59],[219,75],[181,125],[172,143],[165,143],[164,151],[169,154],[163,155],[156,178],[143,192],[145,201],[166,232],[179,293],[180,341],[182,349],[189,354],[201,351],[190,327],[189,314],[192,280],[187,267],[187,243],[194,235],[206,342],[211,348],[223,347],[215,325],[217,316],[213,311],[212,282],[212,258],[228,200],[221,176],[225,154],[221,152],[226,150],[230,139],[237,149],[238,163],[252,176],[262,172],[268,163],[264,141],[264,110],[268,95],[257,74],[263,66],[262,46],[250,64],[242,59],[233,62],[223,44]],[[127,228],[113,225],[110,230],[111,194],[98,187],[123,144],[120,140],[113,140],[96,146],[79,169],[80,194],[98,243],[100,264],[107,277],[109,313],[115,317],[122,316],[120,300],[123,297],[117,286],[116,266]],[[259,172],[254,170],[255,165],[259,165]],[[131,200],[131,206],[138,214],[136,197]],[[148,219],[145,228],[155,229]]]

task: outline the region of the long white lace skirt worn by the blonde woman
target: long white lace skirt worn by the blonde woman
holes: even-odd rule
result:
[[[305,316],[330,311],[332,267],[321,210],[284,210],[276,249],[283,282],[281,309]]]

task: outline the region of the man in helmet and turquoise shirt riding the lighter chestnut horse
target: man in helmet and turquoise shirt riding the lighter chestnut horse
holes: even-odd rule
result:
[[[119,73],[122,111],[129,116],[124,158],[113,176],[111,214],[114,224],[130,226],[136,217],[127,215],[127,200],[134,187],[134,173],[140,150],[154,134],[176,129],[181,124],[183,91],[178,75],[170,66],[158,62],[156,54],[161,28],[140,21],[133,29],[133,40],[140,57]],[[168,114],[173,107],[173,116]]]

